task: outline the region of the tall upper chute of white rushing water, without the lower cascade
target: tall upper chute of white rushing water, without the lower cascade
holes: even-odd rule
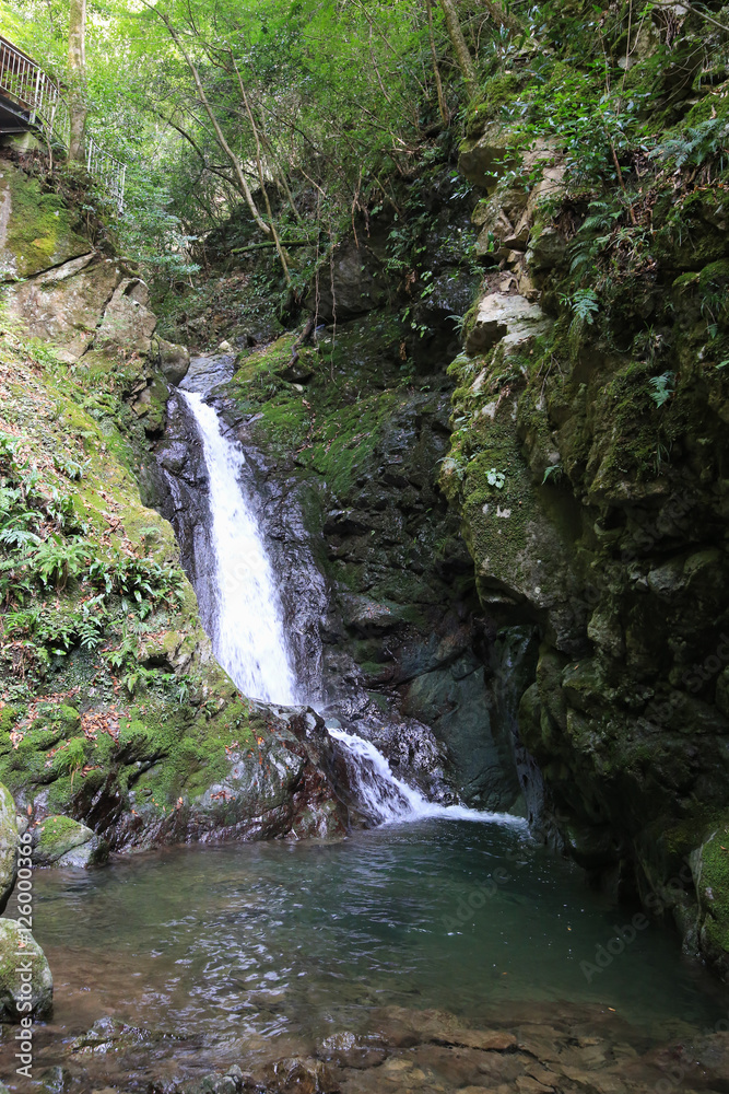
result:
[[[258,521],[240,488],[245,456],[223,437],[220,418],[201,395],[179,394],[198,424],[210,478],[215,656],[244,695],[295,703],[296,680],[273,570]]]

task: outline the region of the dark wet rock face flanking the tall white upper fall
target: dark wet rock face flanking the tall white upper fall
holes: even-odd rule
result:
[[[327,406],[329,379],[317,352],[299,354],[298,374],[310,373],[304,393],[285,380],[294,336],[243,354],[232,380],[225,354],[193,358],[183,386],[211,391],[246,454],[242,486],[280,579],[309,701],[373,740],[395,772],[428,795],[508,808],[519,788],[510,732],[497,724],[486,679],[493,635],[473,618],[472,561],[436,485],[449,391],[442,376],[432,377],[432,392],[399,387],[392,338],[381,315],[339,328],[339,351],[366,393],[364,420],[345,407],[342,421]],[[270,403],[258,400],[259,375],[278,377]],[[286,437],[277,420],[282,395],[292,417],[302,408],[311,421],[326,416],[339,435]],[[156,504],[175,525],[210,626],[204,462],[179,396],[167,419]]]

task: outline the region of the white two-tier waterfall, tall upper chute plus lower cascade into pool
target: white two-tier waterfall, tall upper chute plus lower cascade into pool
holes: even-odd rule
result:
[[[224,435],[220,418],[203,394],[179,389],[179,395],[197,423],[210,482],[214,559],[212,572],[209,569],[203,578],[209,585],[207,598],[213,603],[210,629],[215,656],[244,695],[282,706],[305,701],[292,667],[275,577],[256,513],[240,484],[245,455]],[[376,823],[436,816],[517,826],[525,823],[508,814],[428,802],[392,775],[386,758],[369,741],[339,726],[328,726],[328,732],[342,752],[362,812]]]

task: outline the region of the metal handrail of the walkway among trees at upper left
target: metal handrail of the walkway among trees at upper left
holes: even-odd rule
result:
[[[68,149],[71,140],[71,112],[54,81],[39,65],[12,42],[0,35],[0,93],[17,110],[19,120],[40,129],[46,140]],[[86,168],[124,210],[126,164],[105,152],[93,137],[86,138]]]

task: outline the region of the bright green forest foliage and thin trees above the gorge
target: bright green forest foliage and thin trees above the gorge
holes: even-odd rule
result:
[[[61,82],[68,10],[2,5]],[[393,186],[493,123],[517,152],[561,144],[598,202],[579,266],[615,218],[636,226],[646,175],[722,177],[728,24],[716,0],[87,0],[87,127],[129,165],[121,249],[173,279],[247,206],[296,290],[341,234],[398,210]]]

